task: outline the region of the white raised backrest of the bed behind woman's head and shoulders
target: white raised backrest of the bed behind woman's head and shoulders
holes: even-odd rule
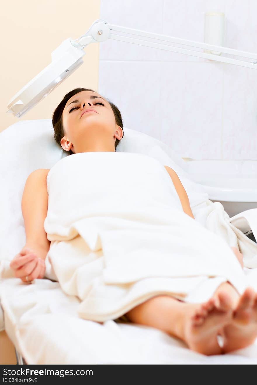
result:
[[[139,131],[125,127],[123,131],[116,151],[140,152],[173,168],[187,191],[192,209],[208,199],[199,185],[190,180],[186,162],[168,146]],[[14,123],[0,133],[0,142],[0,259],[12,260],[26,243],[21,201],[28,175],[40,168],[50,169],[69,155],[53,138],[52,119]]]

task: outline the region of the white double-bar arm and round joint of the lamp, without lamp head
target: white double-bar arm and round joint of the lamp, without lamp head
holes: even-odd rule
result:
[[[85,45],[90,44],[92,42],[102,42],[107,39],[113,39],[113,40],[127,42],[130,44],[144,45],[145,47],[157,48],[161,50],[177,52],[180,54],[191,55],[195,57],[202,57],[204,59],[215,60],[218,62],[224,62],[228,64],[240,65],[242,67],[257,69],[257,65],[256,65],[257,62],[255,63],[255,62],[248,62],[245,60],[219,57],[214,54],[207,54],[205,52],[199,52],[192,49],[174,47],[171,45],[164,44],[162,42],[182,44],[182,45],[187,45],[189,47],[213,50],[213,51],[222,52],[224,54],[236,55],[240,57],[246,57],[246,58],[257,60],[257,54],[254,54],[251,52],[239,51],[232,48],[222,47],[220,45],[212,45],[207,43],[195,42],[193,40],[179,39],[172,36],[160,35],[158,33],[152,33],[152,32],[147,32],[143,30],[136,30],[134,28],[122,27],[120,25],[115,25],[115,24],[108,24],[105,20],[102,20],[102,19],[98,19],[98,20],[96,20],[92,24],[92,26],[89,28],[88,32],[85,35],[83,35],[80,39],[77,39],[78,43],[73,41],[72,44],[75,45],[76,47],[84,48]],[[130,35],[134,35],[134,38],[126,35],[125,36],[118,35],[115,32],[128,33]],[[142,40],[140,39],[141,37],[148,38],[150,40]],[[152,41],[153,39],[159,40],[159,42],[154,42]]]

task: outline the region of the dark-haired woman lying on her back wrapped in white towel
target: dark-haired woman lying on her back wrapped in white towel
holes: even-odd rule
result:
[[[247,287],[242,254],[195,221],[173,169],[116,152],[118,108],[79,88],[52,122],[69,156],[27,178],[26,244],[10,263],[15,276],[44,278],[48,258],[62,290],[80,298],[84,319],[125,316],[205,355],[254,343],[257,293]]]

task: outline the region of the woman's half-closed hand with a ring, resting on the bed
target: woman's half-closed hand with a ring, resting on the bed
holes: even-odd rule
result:
[[[26,243],[10,263],[10,268],[14,270],[15,277],[20,278],[23,282],[43,278],[45,276],[47,253],[48,250],[42,246]]]

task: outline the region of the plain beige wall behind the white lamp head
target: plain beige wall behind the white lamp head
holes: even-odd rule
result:
[[[85,47],[83,64],[21,118],[6,114],[9,100],[51,63],[52,52],[71,38],[78,39],[100,18],[100,0],[15,0],[0,12],[0,131],[30,119],[51,119],[63,96],[77,87],[98,91],[99,44]]]

